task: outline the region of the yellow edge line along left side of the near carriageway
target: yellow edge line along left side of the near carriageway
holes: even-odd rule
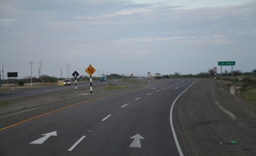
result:
[[[139,88],[139,89],[142,89],[142,88]],[[131,92],[131,91],[135,91],[135,90],[139,90],[139,89],[134,89],[134,90],[125,91],[125,92],[121,92],[121,93],[110,94],[110,95],[106,95],[106,96],[102,96],[102,97],[97,97],[97,98],[94,98],[94,99],[86,100],[86,101],[83,101],[83,102],[79,102],[79,103],[77,103],[77,104],[73,104],[73,105],[70,105],[70,106],[67,106],[67,107],[64,107],[64,108],[60,108],[60,109],[58,109],[58,110],[54,110],[54,111],[51,111],[51,112],[48,112],[48,113],[45,113],[45,114],[41,114],[41,115],[39,115],[39,116],[32,117],[32,118],[29,118],[29,119],[27,119],[27,120],[24,120],[24,121],[21,121],[21,122],[12,124],[12,125],[7,126],[7,127],[4,127],[4,128],[1,128],[0,131],[1,131],[1,130],[4,130],[4,129],[7,129],[7,128],[10,128],[10,127],[13,127],[13,126],[16,126],[16,125],[19,125],[19,124],[21,124],[21,123],[24,123],[24,122],[33,120],[33,119],[38,118],[38,117],[42,117],[42,116],[45,116],[45,115],[48,115],[48,114],[51,114],[51,113],[54,113],[54,112],[57,112],[57,111],[61,111],[61,110],[64,110],[64,109],[66,109],[66,108],[73,107],[73,106],[76,106],[76,105],[79,105],[79,104],[82,104],[82,103],[86,103],[86,102],[88,102],[88,101],[92,101],[92,100],[96,100],[96,99],[100,99],[100,98],[104,98],[104,97],[108,97],[108,96],[112,96],[112,95],[122,94],[122,93],[126,93],[126,92]]]

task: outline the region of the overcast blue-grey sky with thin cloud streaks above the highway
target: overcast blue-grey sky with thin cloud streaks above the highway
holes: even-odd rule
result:
[[[0,0],[4,77],[256,69],[255,0]],[[223,66],[231,71],[231,66]],[[2,75],[2,67],[1,67]],[[68,74],[69,75],[69,74]],[[87,74],[88,75],[88,74]]]

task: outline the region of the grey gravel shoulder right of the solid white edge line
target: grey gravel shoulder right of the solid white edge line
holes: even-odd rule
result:
[[[176,102],[184,155],[256,155],[256,108],[214,79],[197,79]],[[236,144],[230,141],[236,141]]]

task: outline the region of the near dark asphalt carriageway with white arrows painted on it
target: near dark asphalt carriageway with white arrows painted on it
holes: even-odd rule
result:
[[[170,112],[177,97],[196,80],[161,81],[4,129],[0,155],[182,155]]]

